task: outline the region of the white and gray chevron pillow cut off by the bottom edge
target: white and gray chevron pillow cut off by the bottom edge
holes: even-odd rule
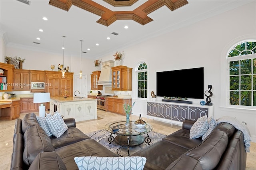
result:
[[[79,170],[143,170],[146,158],[142,156],[74,158]]]

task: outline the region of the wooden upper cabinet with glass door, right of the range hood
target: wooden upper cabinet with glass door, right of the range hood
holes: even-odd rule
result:
[[[112,90],[132,91],[132,68],[123,65],[112,67]]]

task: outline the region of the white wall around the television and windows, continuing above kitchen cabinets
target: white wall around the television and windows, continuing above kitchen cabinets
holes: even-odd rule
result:
[[[256,39],[256,1],[250,4],[203,20],[196,24],[180,28],[165,35],[152,38],[143,43],[118,49],[124,51],[123,65],[133,67],[138,61],[146,61],[148,71],[148,91],[156,92],[156,72],[176,69],[187,69],[204,67],[204,88],[212,85],[212,103],[214,105],[214,117],[217,119],[229,115],[240,121],[246,121],[250,129],[252,141],[256,142],[256,110],[227,108],[223,101],[223,89],[226,89],[226,81],[222,75],[226,72],[227,50],[236,45],[234,40],[249,38]],[[2,39],[1,39],[2,41]],[[234,42],[234,44],[230,43]],[[230,45],[232,44],[232,45]],[[113,47],[113,54],[115,52]],[[61,54],[43,53],[19,49],[17,47],[6,47],[6,55],[26,58],[24,69],[50,70],[50,65],[62,63]],[[39,57],[39,59],[38,59]],[[80,57],[69,56],[70,71],[79,73]],[[102,61],[113,59],[113,55],[102,57]],[[2,59],[1,59],[2,61]],[[65,61],[67,63],[67,61]],[[90,77],[94,71],[93,60],[83,59],[82,71]],[[65,64],[66,65],[66,64]],[[166,80],[172,81],[172,80]],[[135,89],[136,82],[133,82]],[[90,81],[88,81],[90,87]],[[134,92],[134,91],[133,91]],[[157,95],[157,94],[156,94]],[[150,94],[148,95],[150,96]],[[146,117],[146,101],[137,100],[133,113]],[[205,97],[206,99],[206,97]],[[161,100],[158,98],[157,100]],[[198,100],[193,100],[198,103]]]

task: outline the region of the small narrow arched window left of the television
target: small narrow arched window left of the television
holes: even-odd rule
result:
[[[141,62],[137,68],[138,75],[138,98],[148,97],[148,66],[145,62]]]

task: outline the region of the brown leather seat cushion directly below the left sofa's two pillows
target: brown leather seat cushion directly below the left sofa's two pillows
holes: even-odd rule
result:
[[[68,144],[72,144],[75,142],[79,142],[81,140],[85,140],[90,138],[86,134],[84,134],[81,130],[75,127],[68,128],[62,136],[56,138],[55,136],[51,136],[50,139],[52,140],[52,146],[54,149],[66,146]]]

